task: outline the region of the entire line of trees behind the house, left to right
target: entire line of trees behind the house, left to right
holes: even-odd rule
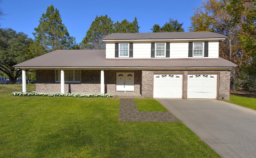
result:
[[[3,16],[1,10],[0,17]],[[210,31],[227,36],[220,42],[220,57],[236,63],[231,88],[256,92],[256,0],[205,0],[190,17],[190,31]],[[163,26],[154,24],[152,32],[184,32],[183,23],[169,19]],[[0,70],[15,83],[20,76],[13,65],[57,49],[105,49],[102,38],[111,33],[139,32],[137,18],[113,22],[110,17],[96,16],[82,42],[70,36],[62,24],[60,12],[53,5],[40,17],[34,28],[34,40],[11,28],[0,28]]]

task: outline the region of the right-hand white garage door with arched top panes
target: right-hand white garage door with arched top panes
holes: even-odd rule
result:
[[[188,98],[217,98],[217,74],[188,75]]]

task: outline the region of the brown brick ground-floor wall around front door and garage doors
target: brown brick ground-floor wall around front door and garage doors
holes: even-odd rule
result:
[[[229,99],[230,71],[152,71],[152,70],[105,70],[105,93],[116,93],[116,73],[134,72],[134,92],[142,97],[153,97],[154,74],[183,74],[183,96],[187,98],[188,74],[218,74],[218,99]],[[60,92],[60,83],[55,83],[54,70],[36,71],[37,92]],[[100,93],[100,70],[81,70],[81,83],[65,83],[65,92]]]

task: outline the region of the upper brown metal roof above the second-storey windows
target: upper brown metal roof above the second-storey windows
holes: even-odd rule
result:
[[[214,32],[154,32],[154,33],[114,33],[103,40],[172,40],[172,39],[206,39],[226,38]]]

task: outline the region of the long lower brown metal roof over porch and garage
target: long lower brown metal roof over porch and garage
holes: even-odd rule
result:
[[[232,68],[237,65],[223,58],[185,59],[106,59],[105,50],[55,50],[15,65],[16,68]]]

